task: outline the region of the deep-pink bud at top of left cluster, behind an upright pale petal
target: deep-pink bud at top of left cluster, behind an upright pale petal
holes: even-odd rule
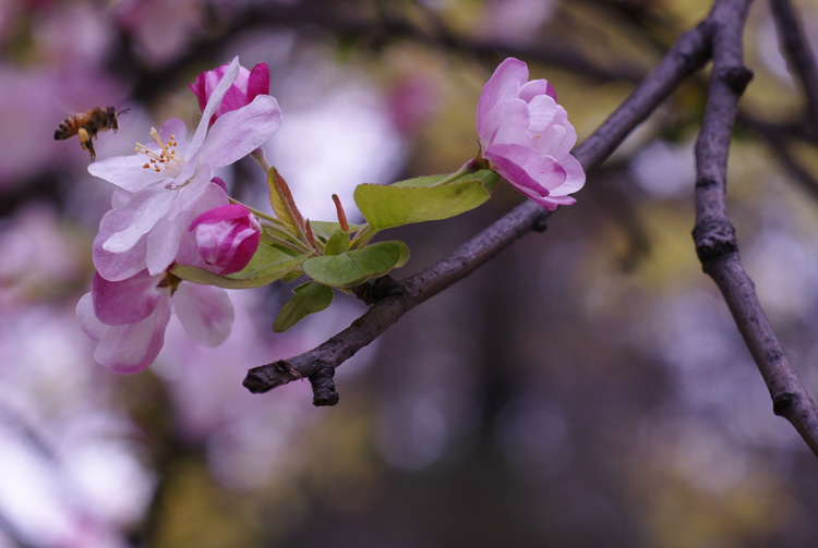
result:
[[[228,68],[228,64],[222,64],[218,69],[205,71],[196,76],[194,83],[189,84],[191,92],[199,99],[199,107],[202,111],[204,111],[210,95],[218,87],[218,83],[221,82]],[[221,114],[250,105],[260,95],[269,95],[269,69],[267,63],[258,63],[253,66],[252,71],[239,66],[239,75],[228,88],[225,98],[221,99],[221,103],[210,118],[210,124]]]

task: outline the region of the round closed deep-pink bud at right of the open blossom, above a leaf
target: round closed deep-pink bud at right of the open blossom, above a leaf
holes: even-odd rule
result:
[[[240,204],[209,209],[191,223],[199,254],[214,267],[214,272],[238,272],[250,263],[258,248],[262,227],[246,207]]]

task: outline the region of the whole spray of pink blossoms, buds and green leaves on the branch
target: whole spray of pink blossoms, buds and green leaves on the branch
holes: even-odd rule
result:
[[[305,220],[284,176],[263,159],[258,147],[281,124],[266,64],[248,71],[237,58],[190,87],[202,108],[192,136],[184,122],[170,119],[151,131],[152,142],[136,145],[135,155],[88,168],[117,190],[93,245],[97,272],[76,312],[97,342],[94,357],[117,373],[154,362],[172,314],[195,341],[224,342],[233,310],[217,285],[250,288],[306,275],[312,281],[296,288],[274,322],[288,329],[328,306],[333,288],[349,290],[406,263],[404,242],[369,243],[380,230],[478,207],[501,176],[550,210],[574,204],[570,194],[585,184],[570,155],[577,134],[554,88],[529,82],[528,66],[517,59],[501,63],[480,96],[478,157],[449,175],[359,186],[365,222],[356,226],[335,195],[337,223]],[[251,153],[266,171],[275,217],[232,203],[216,176]],[[263,246],[256,215],[264,217]]]

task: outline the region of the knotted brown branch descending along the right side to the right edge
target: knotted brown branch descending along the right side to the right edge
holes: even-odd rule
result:
[[[702,269],[727,307],[767,383],[773,412],[784,416],[818,455],[818,410],[772,330],[742,266],[735,230],[727,218],[726,170],[738,99],[753,73],[744,66],[742,34],[751,0],[717,0],[713,71],[705,119],[696,142],[696,227],[694,241]]]

